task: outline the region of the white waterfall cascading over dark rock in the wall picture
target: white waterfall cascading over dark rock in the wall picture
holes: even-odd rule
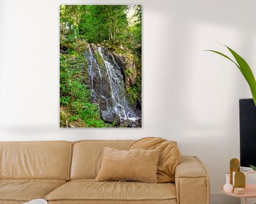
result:
[[[125,96],[122,69],[112,52],[97,45],[87,45],[85,58],[92,98],[99,104],[103,120],[112,122],[116,116],[121,123],[139,120],[139,115],[129,106]],[[99,60],[102,63],[97,62]]]

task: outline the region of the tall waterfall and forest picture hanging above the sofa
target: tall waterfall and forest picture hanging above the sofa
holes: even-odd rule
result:
[[[60,128],[142,127],[142,6],[60,5]]]

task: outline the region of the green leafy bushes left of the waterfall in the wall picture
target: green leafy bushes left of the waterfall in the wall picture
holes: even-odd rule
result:
[[[83,63],[85,58],[74,50],[68,55],[60,53],[60,106],[68,110],[66,120],[70,123],[82,120],[86,127],[107,127],[97,105],[90,102],[90,90],[82,82]]]

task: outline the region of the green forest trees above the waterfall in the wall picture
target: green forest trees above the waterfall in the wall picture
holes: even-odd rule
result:
[[[60,23],[69,31],[70,40],[109,40],[132,50],[141,46],[142,8],[138,5],[61,5]]]

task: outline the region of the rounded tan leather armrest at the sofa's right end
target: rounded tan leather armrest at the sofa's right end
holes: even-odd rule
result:
[[[197,157],[182,156],[176,167],[175,185],[178,204],[209,204],[208,171]]]

